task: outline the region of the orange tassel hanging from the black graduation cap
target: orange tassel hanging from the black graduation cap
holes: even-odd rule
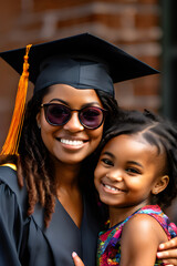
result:
[[[23,72],[19,81],[13,115],[12,115],[8,136],[3,144],[0,155],[19,155],[18,149],[19,149],[19,142],[20,142],[21,131],[23,126],[23,120],[24,120],[24,108],[25,108],[25,99],[27,99],[28,81],[29,81],[28,59],[29,59],[29,51],[31,45],[32,44],[27,45],[24,63],[23,63]]]

